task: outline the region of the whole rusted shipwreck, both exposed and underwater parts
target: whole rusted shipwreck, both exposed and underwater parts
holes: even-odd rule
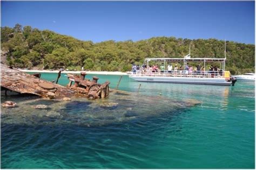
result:
[[[1,88],[20,94],[34,94],[26,100],[14,97],[14,102],[2,101],[16,107],[3,107],[2,126],[16,125],[79,125],[103,126],[116,123],[136,123],[147,118],[169,119],[186,109],[200,104],[197,100],[174,100],[164,96],[149,96],[134,92],[111,89],[109,82],[98,83],[98,77],[85,79],[85,73],[68,74],[69,83],[66,87],[39,79],[40,74],[30,75],[17,69],[2,66]],[[58,74],[58,78],[60,73]],[[58,82],[58,79],[56,80]],[[108,97],[107,97],[108,96]],[[72,97],[72,101],[65,98]],[[87,100],[87,98],[105,98],[105,100]],[[70,100],[70,99],[69,99]],[[3,104],[2,103],[2,106]]]

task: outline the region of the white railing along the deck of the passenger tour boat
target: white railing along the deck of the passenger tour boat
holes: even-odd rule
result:
[[[224,72],[220,71],[192,71],[192,70],[137,70],[131,73],[132,76],[157,76],[157,77],[208,77],[224,78]]]

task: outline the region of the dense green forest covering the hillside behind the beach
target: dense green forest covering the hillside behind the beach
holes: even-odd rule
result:
[[[132,63],[142,65],[145,58],[191,57],[224,58],[224,41],[217,39],[182,39],[153,37],[133,42],[93,43],[31,26],[1,27],[2,62],[19,68],[80,70],[131,70]],[[254,45],[226,42],[226,70],[232,74],[254,72]]]

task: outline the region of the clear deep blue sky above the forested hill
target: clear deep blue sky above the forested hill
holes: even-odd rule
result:
[[[93,42],[165,36],[255,44],[254,2],[1,2],[1,8],[2,26]]]

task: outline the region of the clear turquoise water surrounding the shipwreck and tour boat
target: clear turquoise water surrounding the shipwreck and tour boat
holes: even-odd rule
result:
[[[65,74],[59,83],[66,85]],[[92,75],[88,77],[91,78]],[[97,75],[116,88],[120,76]],[[42,74],[55,80],[57,74]],[[139,84],[142,84],[138,92]],[[2,95],[2,168],[254,168],[254,83],[139,83],[104,100]],[[194,104],[190,100],[197,101]],[[99,107],[105,102],[118,103]],[[49,110],[35,110],[35,104]]]

